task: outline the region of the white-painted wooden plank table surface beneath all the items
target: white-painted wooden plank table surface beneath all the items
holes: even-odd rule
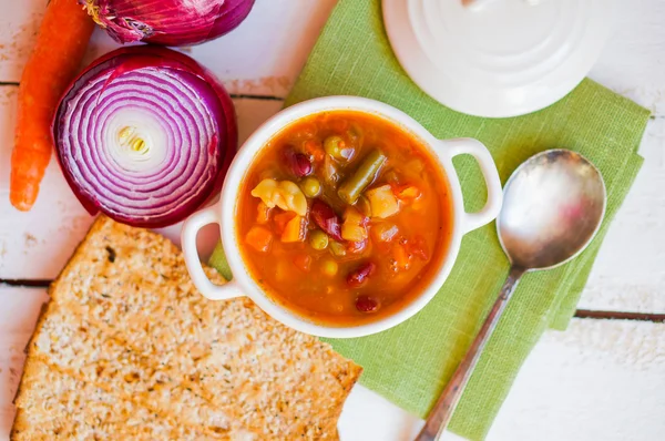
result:
[[[0,0],[0,440],[44,286],[91,217],[54,162],[34,208],[9,204],[17,85],[45,0]],[[277,112],[335,0],[257,0],[241,28],[191,54],[234,96],[241,141]],[[603,245],[565,332],[550,331],[529,357],[490,440],[665,439],[665,1],[623,1],[591,76],[653,111],[644,167]],[[88,60],[116,45],[96,32]],[[164,232],[177,239],[178,226]],[[209,252],[214,232],[204,239]],[[205,248],[205,247],[204,247]],[[630,312],[630,314],[622,314]],[[621,318],[623,317],[623,318]],[[342,440],[408,440],[421,421],[362,387],[340,421]],[[449,435],[448,439],[457,439]]]

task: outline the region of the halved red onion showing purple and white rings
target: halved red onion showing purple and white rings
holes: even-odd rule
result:
[[[208,71],[142,45],[81,73],[60,102],[53,139],[91,214],[154,228],[183,221],[222,187],[237,127],[231,98]]]

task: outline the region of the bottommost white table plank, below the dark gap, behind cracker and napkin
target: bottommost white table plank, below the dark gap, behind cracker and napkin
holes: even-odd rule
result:
[[[13,418],[22,350],[47,299],[43,289],[0,286],[0,440]],[[488,440],[659,440],[664,396],[665,325],[575,319],[566,332],[545,334],[529,356]],[[397,441],[421,424],[358,387],[339,429],[345,441]]]

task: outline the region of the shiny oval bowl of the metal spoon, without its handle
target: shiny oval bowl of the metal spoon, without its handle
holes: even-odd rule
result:
[[[510,261],[524,269],[562,265],[586,247],[605,214],[605,184],[598,170],[567,150],[532,156],[504,187],[497,219]]]

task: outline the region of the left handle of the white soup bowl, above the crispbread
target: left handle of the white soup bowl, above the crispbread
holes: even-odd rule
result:
[[[196,248],[196,235],[198,230],[208,224],[219,224],[219,206],[217,204],[194,213],[183,224],[181,243],[185,255],[185,264],[192,276],[192,281],[204,297],[211,300],[226,300],[244,296],[237,281],[229,280],[224,285],[215,285],[206,276],[198,259]]]

